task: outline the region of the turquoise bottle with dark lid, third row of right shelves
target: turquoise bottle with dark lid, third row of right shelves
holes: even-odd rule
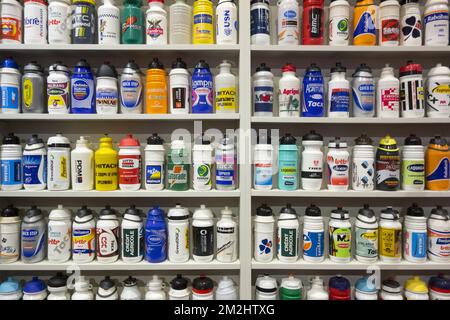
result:
[[[298,187],[297,140],[290,133],[280,139],[278,151],[278,189],[296,190]]]

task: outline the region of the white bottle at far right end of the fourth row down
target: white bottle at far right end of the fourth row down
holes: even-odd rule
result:
[[[450,217],[442,206],[431,210],[428,218],[428,259],[435,262],[450,261]],[[447,245],[442,245],[447,244]]]

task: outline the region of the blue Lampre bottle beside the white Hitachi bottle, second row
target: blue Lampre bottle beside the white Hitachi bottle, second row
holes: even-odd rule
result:
[[[192,113],[213,113],[213,76],[205,60],[200,60],[192,75]]]

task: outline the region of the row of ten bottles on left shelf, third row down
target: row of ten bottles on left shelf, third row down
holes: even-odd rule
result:
[[[139,140],[130,134],[120,140],[117,151],[113,139],[105,135],[94,152],[83,136],[71,151],[69,139],[61,134],[50,137],[47,145],[32,135],[22,151],[19,137],[10,133],[0,148],[0,189],[137,191],[141,185],[153,191],[186,191],[191,186],[198,191],[236,189],[234,138],[225,136],[213,145],[202,136],[192,150],[184,139],[172,140],[166,151],[164,140],[155,133],[142,152]]]

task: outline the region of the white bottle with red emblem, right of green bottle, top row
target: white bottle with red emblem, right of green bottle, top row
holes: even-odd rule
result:
[[[146,12],[145,34],[147,44],[167,44],[167,11],[164,9],[163,0],[149,0],[149,8]]]

